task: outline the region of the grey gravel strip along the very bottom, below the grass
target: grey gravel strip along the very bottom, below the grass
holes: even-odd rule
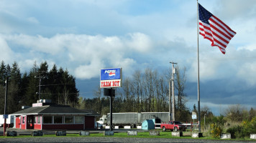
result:
[[[133,137],[33,137],[33,138],[8,138],[0,139],[0,142],[235,142],[246,141],[206,140],[206,139],[157,139],[157,138],[133,138]],[[248,141],[253,142],[253,141]],[[256,141],[255,141],[256,142]],[[255,143],[254,142],[254,143]]]

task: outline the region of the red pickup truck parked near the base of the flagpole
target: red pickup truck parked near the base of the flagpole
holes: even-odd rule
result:
[[[166,131],[166,129],[170,129],[174,132],[177,132],[178,130],[185,131],[187,129],[185,125],[178,121],[169,121],[168,123],[162,123],[160,127],[161,129],[163,129],[163,131]]]

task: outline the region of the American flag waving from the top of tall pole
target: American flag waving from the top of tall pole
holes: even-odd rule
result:
[[[211,46],[218,46],[223,54],[226,53],[227,44],[236,34],[235,31],[229,28],[216,16],[204,9],[201,4],[198,4],[199,13],[199,34],[204,36],[204,39],[211,41]]]

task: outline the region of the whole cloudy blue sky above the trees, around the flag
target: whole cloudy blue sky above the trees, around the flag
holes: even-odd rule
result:
[[[200,102],[214,114],[231,104],[256,109],[256,1],[199,0],[237,34],[226,54],[199,36]],[[1,0],[0,61],[21,72],[47,61],[93,97],[100,69],[186,67],[187,107],[197,107],[196,0]]]

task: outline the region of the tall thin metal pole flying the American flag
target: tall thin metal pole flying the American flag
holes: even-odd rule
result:
[[[200,119],[200,84],[199,84],[199,36],[198,36],[198,0],[197,1],[197,74],[198,74],[198,80],[197,80],[197,93],[198,93],[198,132],[201,132],[201,119]]]

